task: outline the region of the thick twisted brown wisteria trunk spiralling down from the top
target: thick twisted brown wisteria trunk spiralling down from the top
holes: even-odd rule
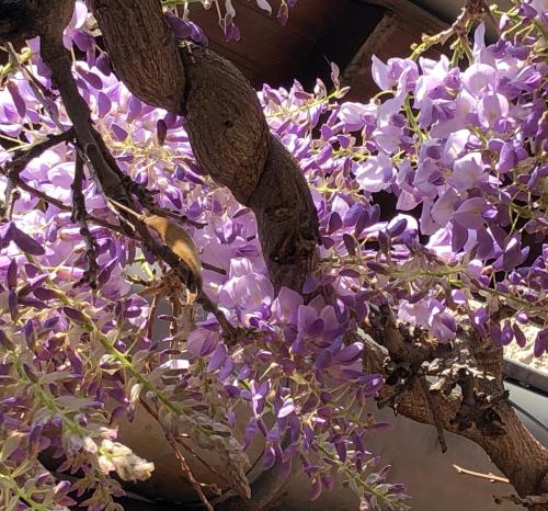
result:
[[[165,36],[158,0],[92,0],[91,5],[118,77],[137,96],[165,106],[167,94],[173,92],[165,83],[172,83],[173,72],[180,70],[181,102],[169,110],[185,116],[197,162],[254,212],[274,287],[301,291],[319,241],[316,208],[297,162],[269,133],[248,80],[209,49],[191,43],[179,49]],[[156,43],[148,46],[150,39]],[[157,65],[172,61],[174,52],[180,64]],[[153,91],[145,93],[144,82]]]

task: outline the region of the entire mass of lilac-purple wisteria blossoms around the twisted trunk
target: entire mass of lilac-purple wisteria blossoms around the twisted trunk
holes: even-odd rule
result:
[[[241,495],[250,491],[244,450],[262,435],[264,468],[279,463],[288,474],[300,463],[312,498],[339,474],[364,507],[407,509],[403,487],[386,482],[387,469],[367,452],[367,433],[385,425],[366,406],[383,385],[363,370],[361,327],[370,310],[388,305],[436,342],[450,342],[468,316],[493,343],[524,345],[523,325],[535,321],[535,354],[548,352],[548,12],[532,1],[494,13],[494,44],[480,24],[472,42],[459,38],[453,59],[430,60],[421,48],[409,59],[374,58],[381,92],[369,103],[341,101],[335,67],[332,92],[320,81],[312,92],[297,82],[260,92],[320,217],[318,269],[304,289],[315,298],[306,303],[286,288],[275,296],[252,212],[196,164],[182,118],[117,81],[76,2],[65,44],[87,53],[73,72],[95,126],[119,168],[186,217],[204,288],[244,336],[227,347],[213,316],[156,314],[156,300],[137,288],[165,285],[165,269],[124,234],[91,180],[83,195],[96,289],[82,280],[89,262],[71,214],[70,145],[44,151],[16,179],[0,178],[5,509],[67,509],[84,493],[89,509],[121,509],[114,476],[139,480],[153,470],[117,441],[121,418],[142,407],[173,442],[187,435],[215,450]],[[205,42],[197,25],[169,15],[178,35]],[[60,101],[41,93],[50,83],[37,42],[19,61],[0,72],[2,168],[70,127]],[[159,338],[162,321],[181,328]],[[246,417],[236,412],[241,402]],[[248,424],[242,439],[237,420]],[[41,453],[76,481],[53,477]]]

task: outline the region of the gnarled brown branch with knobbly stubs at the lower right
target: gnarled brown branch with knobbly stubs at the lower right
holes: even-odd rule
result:
[[[409,327],[396,326],[393,318],[390,315],[387,317],[387,314],[384,310],[381,318],[372,317],[373,326],[362,339],[366,344],[366,368],[370,372],[380,370],[389,382],[380,393],[379,402],[390,404],[398,413],[409,419],[432,424],[438,431],[443,428],[476,442],[520,496],[532,502],[532,511],[546,511],[545,503],[530,497],[548,492],[548,451],[518,419],[505,399],[498,375],[478,371],[473,359],[467,360],[466,367],[461,363],[463,353],[475,351],[476,336],[463,328],[450,347],[424,350],[422,343],[413,342],[416,334]],[[385,325],[384,330],[376,328],[379,322]],[[414,364],[403,366],[406,359],[414,361]],[[455,367],[444,368],[439,360]],[[438,381],[427,389],[421,379],[424,374],[432,375],[429,372],[432,363],[436,364]],[[491,366],[499,365],[493,363]],[[403,367],[407,370],[403,371]],[[406,382],[397,381],[401,378]],[[443,378],[447,382],[442,384]]]

